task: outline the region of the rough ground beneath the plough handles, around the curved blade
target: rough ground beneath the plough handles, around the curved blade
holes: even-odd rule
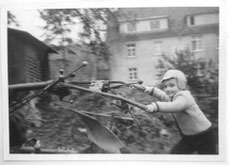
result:
[[[91,142],[87,137],[85,124],[74,112],[63,109],[68,106],[76,110],[93,113],[111,114],[131,118],[127,113],[98,96],[77,96],[73,104],[59,102],[40,103],[42,124],[32,128],[34,137],[41,142],[41,149],[69,150],[77,153],[105,153],[103,150],[91,150]],[[125,144],[128,153],[167,154],[180,139],[179,132],[170,116],[149,115],[136,108],[133,109],[140,128],[133,121],[115,119],[112,131]],[[93,115],[96,117],[96,115]],[[110,118],[98,117],[104,126],[110,127]],[[125,152],[125,151],[124,151]]]

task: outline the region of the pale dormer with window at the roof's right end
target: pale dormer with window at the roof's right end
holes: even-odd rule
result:
[[[208,25],[217,23],[219,23],[218,13],[192,15],[187,17],[188,26]]]

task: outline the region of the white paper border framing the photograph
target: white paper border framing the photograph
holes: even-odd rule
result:
[[[152,0],[151,0],[152,1]],[[208,0],[206,2],[193,1],[193,0],[160,0],[160,2],[153,3],[149,0],[141,0],[141,1],[125,1],[118,0],[116,2],[111,0],[50,0],[50,1],[39,1],[39,0],[24,0],[24,1],[16,1],[9,0],[4,1],[0,5],[1,11],[1,57],[0,57],[0,66],[1,66],[1,128],[3,132],[2,138],[0,138],[0,146],[2,146],[2,160],[9,162],[17,162],[24,163],[23,161],[60,161],[60,160],[68,160],[68,161],[76,161],[76,160],[100,160],[100,161],[156,161],[156,162],[164,162],[164,163],[178,163],[178,162],[221,162],[224,163],[227,161],[227,130],[228,130],[228,120],[227,120],[227,112],[226,112],[226,67],[227,67],[227,56],[226,56],[226,40],[227,33],[226,31],[226,0]],[[78,2],[77,5],[76,2]],[[134,3],[133,3],[134,2]],[[192,4],[192,5],[190,5]],[[13,8],[17,9],[38,9],[38,8],[72,8],[75,7],[150,7],[150,6],[158,6],[158,7],[170,7],[170,6],[202,6],[202,7],[219,7],[220,8],[220,53],[219,53],[219,155],[213,156],[203,156],[203,155],[152,155],[152,154],[74,154],[74,155],[39,155],[39,154],[31,154],[31,155],[22,155],[22,154],[10,154],[9,153],[9,124],[8,124],[8,75],[7,75],[7,11]],[[3,97],[4,96],[4,97]],[[222,111],[221,111],[222,110]],[[18,164],[18,162],[17,162]]]

